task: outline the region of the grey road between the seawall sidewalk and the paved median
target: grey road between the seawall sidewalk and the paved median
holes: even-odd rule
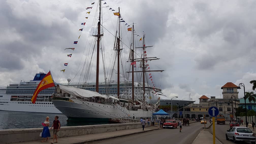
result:
[[[209,125],[209,124],[207,124]],[[91,144],[111,144],[111,143],[141,143],[141,144],[155,144],[155,143],[175,143],[175,144],[191,144],[200,132],[203,124],[195,122],[190,126],[183,126],[182,132],[177,129],[159,129],[140,134],[113,138],[102,141],[90,142]],[[89,143],[88,143],[89,144]]]

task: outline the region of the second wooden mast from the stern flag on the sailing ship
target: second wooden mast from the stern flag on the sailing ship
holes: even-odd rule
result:
[[[118,7],[118,20],[119,20],[119,32],[118,35],[119,37],[117,38],[117,43],[118,43],[118,49],[117,49],[117,96],[119,97],[120,95],[120,7]]]

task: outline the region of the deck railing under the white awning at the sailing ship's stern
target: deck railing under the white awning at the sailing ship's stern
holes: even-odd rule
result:
[[[113,105],[115,103],[115,100],[112,101],[111,98],[106,99],[106,98],[100,98],[100,97],[80,97],[76,95],[70,95],[66,93],[54,93],[54,97],[66,97],[66,98],[73,98],[73,99],[78,99],[78,100],[83,100],[83,101],[89,101],[89,102],[95,102],[99,104],[106,104],[106,105]]]

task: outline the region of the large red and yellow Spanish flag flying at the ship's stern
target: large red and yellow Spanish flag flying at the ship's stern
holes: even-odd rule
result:
[[[49,71],[45,77],[40,81],[40,83],[38,84],[34,94],[33,94],[33,97],[31,98],[31,102],[33,104],[35,104],[36,102],[36,98],[37,98],[37,95],[38,93],[41,91],[41,90],[44,90],[46,88],[49,88],[49,87],[54,87],[55,84],[53,82],[53,79],[51,77],[51,72]]]

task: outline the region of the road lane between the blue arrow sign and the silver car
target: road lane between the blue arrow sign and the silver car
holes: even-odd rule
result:
[[[245,125],[242,125],[242,127]],[[229,122],[226,121],[225,125],[217,125],[215,122],[215,137],[224,144],[233,143],[232,140],[226,140],[226,131],[230,129]],[[207,129],[212,134],[212,126]],[[238,142],[240,144],[251,144],[251,142]]]

